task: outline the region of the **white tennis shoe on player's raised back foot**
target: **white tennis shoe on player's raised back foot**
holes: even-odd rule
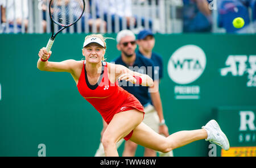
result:
[[[208,133],[208,137],[205,139],[205,141],[217,144],[224,150],[229,150],[229,140],[221,131],[220,125],[218,125],[217,121],[210,120],[202,128],[204,128]]]

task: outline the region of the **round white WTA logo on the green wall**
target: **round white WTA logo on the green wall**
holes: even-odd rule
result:
[[[189,84],[203,74],[206,62],[203,49],[196,45],[185,45],[172,54],[168,74],[175,83]]]

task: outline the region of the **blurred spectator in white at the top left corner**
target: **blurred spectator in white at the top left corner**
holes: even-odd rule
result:
[[[23,2],[23,3],[22,3]],[[27,0],[0,0],[1,21],[9,24],[9,32],[22,32],[22,22],[25,30],[28,26],[28,1]],[[16,30],[14,24],[17,24]],[[6,31],[6,30],[5,30]]]

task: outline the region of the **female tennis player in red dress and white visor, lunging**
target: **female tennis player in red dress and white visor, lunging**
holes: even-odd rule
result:
[[[115,144],[121,139],[166,153],[193,141],[206,139],[228,150],[229,141],[215,120],[210,120],[202,129],[176,132],[164,137],[142,123],[143,106],[132,94],[118,86],[118,80],[130,81],[142,86],[154,85],[146,74],[133,72],[122,65],[105,62],[105,37],[85,37],[82,54],[84,61],[65,60],[50,62],[46,48],[39,51],[38,69],[48,72],[71,73],[80,94],[108,123],[102,144],[106,156],[118,156]]]

